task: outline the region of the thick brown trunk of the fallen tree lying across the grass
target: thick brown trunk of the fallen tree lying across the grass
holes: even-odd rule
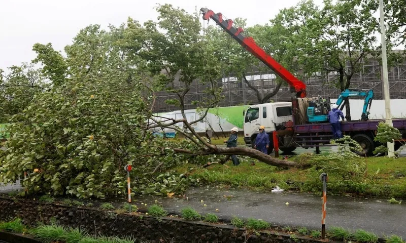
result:
[[[245,155],[245,156],[249,156],[251,158],[256,158],[259,161],[262,161],[263,163],[270,165],[270,166],[276,166],[276,167],[295,167],[295,166],[297,166],[297,164],[293,161],[274,158],[274,157],[264,154],[256,149],[244,148],[244,147],[217,148],[217,150],[210,149],[207,151],[197,151],[197,152],[193,152],[193,151],[190,151],[187,149],[174,148],[174,151],[177,153],[187,153],[190,155],[210,155],[210,154]],[[225,163],[225,161],[224,161],[224,163]],[[224,163],[221,163],[221,164],[224,164]]]

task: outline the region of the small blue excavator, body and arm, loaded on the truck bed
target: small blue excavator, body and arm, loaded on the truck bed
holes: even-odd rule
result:
[[[361,120],[368,120],[369,109],[371,108],[372,100],[374,99],[373,90],[361,90],[361,89],[346,89],[343,91],[336,105],[339,106],[341,110],[344,108],[344,101],[348,98],[359,98],[364,97],[364,106],[362,109]],[[340,107],[341,106],[341,107]],[[323,99],[319,97],[316,100],[309,101],[309,107],[307,108],[307,115],[310,123],[326,123],[327,114],[330,111],[330,100]]]

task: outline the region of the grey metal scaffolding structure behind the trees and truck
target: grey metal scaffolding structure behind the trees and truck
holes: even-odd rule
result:
[[[347,70],[349,69],[347,63]],[[390,67],[389,70],[389,86],[391,99],[406,99],[406,61]],[[258,89],[260,94],[266,94],[274,91],[277,86],[275,73],[266,67],[252,67],[246,71],[248,82]],[[304,77],[302,80],[307,85],[308,97],[322,96],[324,98],[336,99],[341,91],[335,87],[339,78],[338,73],[314,73],[310,77]],[[223,77],[217,82],[219,87],[223,88],[224,99],[219,103],[219,106],[236,106],[258,104],[258,99],[254,90],[249,88],[242,81],[241,77],[236,77],[232,73],[223,73]],[[179,88],[181,83],[176,84]],[[193,101],[202,101],[209,98],[204,91],[209,87],[206,82],[194,80],[190,85],[190,91],[185,97],[186,109],[194,109],[196,105]],[[350,88],[356,89],[373,89],[374,99],[383,99],[383,82],[382,82],[382,66],[375,59],[362,60],[362,65],[359,72],[356,72],[351,78]],[[155,104],[155,112],[166,112],[179,109],[176,106],[168,105],[164,101],[171,98],[177,98],[174,94],[159,92],[156,94],[157,100]],[[290,88],[282,85],[277,95],[270,98],[273,102],[290,101],[293,93],[290,93]]]

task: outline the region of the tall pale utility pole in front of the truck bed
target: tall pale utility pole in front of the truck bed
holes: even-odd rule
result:
[[[384,16],[384,4],[383,0],[379,0],[379,10],[381,19],[381,47],[382,47],[382,69],[383,69],[383,81],[384,81],[384,96],[385,96],[385,114],[386,123],[393,127],[392,116],[390,112],[390,94],[389,94],[389,76],[388,76],[388,60],[386,56],[386,37],[385,37],[385,16]],[[394,143],[388,142],[388,157],[395,157]]]

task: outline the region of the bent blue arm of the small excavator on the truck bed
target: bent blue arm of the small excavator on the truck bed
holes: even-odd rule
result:
[[[364,97],[364,106],[362,108],[361,120],[368,120],[369,110],[371,108],[372,100],[374,99],[373,90],[346,89],[340,94],[335,104],[340,107],[347,98],[357,97]],[[344,104],[341,109],[343,108]]]

